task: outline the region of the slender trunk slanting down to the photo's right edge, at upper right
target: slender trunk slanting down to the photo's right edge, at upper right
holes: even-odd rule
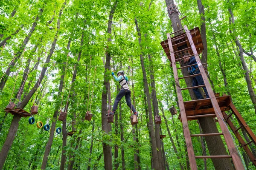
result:
[[[235,20],[234,20],[234,15],[233,15],[233,12],[231,10],[231,8],[229,8],[229,13],[231,15],[231,18],[230,18],[230,24],[234,24],[235,23]],[[254,107],[254,111],[255,111],[255,114],[256,114],[256,96],[255,96],[255,93],[253,91],[253,87],[252,87],[252,82],[250,80],[250,74],[249,74],[249,69],[244,61],[244,54],[243,54],[243,48],[242,48],[242,45],[238,39],[238,37],[236,36],[236,29],[234,28],[233,29],[233,33],[232,31],[230,30],[230,33],[233,34],[234,36],[234,42],[236,42],[236,45],[238,46],[239,48],[239,57],[240,57],[240,60],[241,60],[241,63],[242,63],[242,66],[244,68],[244,71],[245,71],[245,80],[246,80],[246,83],[247,83],[247,88],[248,88],[248,91],[249,91],[249,95],[250,95],[250,98],[252,100],[252,103],[253,103],[253,107]]]

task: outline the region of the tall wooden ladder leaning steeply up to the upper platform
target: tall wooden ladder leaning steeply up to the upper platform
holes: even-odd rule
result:
[[[182,36],[183,37],[185,36],[187,43],[189,42],[189,44],[190,44],[190,47],[179,50],[179,51],[174,51],[174,48],[173,48],[173,45],[172,45],[172,40],[175,39],[175,38],[178,39],[179,36],[175,36],[174,38],[171,39],[170,34],[168,33],[167,34],[167,40],[168,40],[169,52],[170,52],[171,61],[172,61],[173,73],[174,73],[174,77],[175,77],[177,97],[178,97],[179,108],[180,108],[180,117],[181,117],[182,125],[183,125],[183,132],[184,132],[186,147],[187,147],[188,156],[189,156],[190,168],[191,168],[191,170],[197,170],[197,164],[196,164],[195,159],[232,158],[233,164],[234,164],[236,170],[244,170],[242,161],[241,161],[241,159],[239,157],[239,154],[236,150],[235,144],[233,143],[232,136],[231,136],[227,126],[225,125],[225,122],[223,121],[224,117],[222,115],[222,111],[221,111],[221,109],[218,105],[215,94],[213,93],[212,88],[209,84],[209,81],[207,79],[207,74],[204,71],[204,67],[201,63],[201,60],[200,60],[199,56],[198,56],[198,52],[195,48],[195,45],[194,45],[194,42],[192,40],[191,34],[189,33],[189,29],[187,28],[187,26],[184,26],[184,28],[182,30],[185,31],[185,34],[182,34]],[[179,31],[182,31],[182,30],[179,30]],[[179,31],[176,31],[176,32],[179,32]],[[175,59],[175,54],[181,53],[181,52],[184,52],[184,51],[192,51],[192,55]],[[187,116],[186,116],[186,111],[185,111],[185,107],[184,107],[184,103],[183,103],[183,97],[182,97],[182,94],[181,94],[181,90],[185,90],[185,89],[189,89],[189,88],[199,88],[199,87],[202,87],[202,85],[181,89],[179,79],[188,78],[188,77],[195,77],[195,76],[198,76],[200,74],[195,74],[195,75],[179,78],[178,73],[177,73],[177,67],[176,67],[176,62],[178,62],[178,61],[180,61],[184,58],[192,57],[192,56],[195,56],[198,68],[199,68],[199,70],[201,72],[201,75],[202,75],[202,78],[204,80],[205,85],[203,85],[203,86],[205,86],[207,91],[208,91],[209,98],[211,100],[211,103],[212,103],[212,106],[213,106],[214,112],[215,112],[215,114],[197,115],[196,117],[194,116],[193,118],[206,117],[206,116],[215,117],[216,116],[217,119],[218,119],[219,125],[221,127],[221,131],[222,131],[222,133],[198,134],[196,136],[223,135],[224,139],[225,139],[225,142],[227,143],[227,148],[229,150],[230,155],[195,156],[195,153],[194,153],[194,150],[193,150],[193,145],[192,145],[192,140],[191,140],[191,137],[195,136],[195,135],[191,135],[190,132],[189,132],[188,120],[187,120]],[[191,66],[191,65],[189,65],[189,66]],[[186,67],[189,67],[189,66],[184,66],[183,68],[186,68]]]

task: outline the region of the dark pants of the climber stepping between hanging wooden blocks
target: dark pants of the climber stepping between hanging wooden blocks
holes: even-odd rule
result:
[[[114,113],[116,112],[117,105],[123,96],[125,96],[126,103],[129,106],[129,108],[133,111],[133,113],[137,112],[134,106],[131,104],[131,91],[124,90],[124,89],[120,90],[119,93],[117,94],[112,111]]]

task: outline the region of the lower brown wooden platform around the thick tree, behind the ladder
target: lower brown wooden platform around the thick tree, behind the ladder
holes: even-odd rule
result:
[[[230,110],[229,105],[231,103],[230,96],[219,96],[216,97],[218,105],[221,108],[221,112]],[[200,99],[184,102],[186,116],[197,116],[204,114],[215,114],[210,99]],[[216,117],[216,116],[212,116]],[[180,115],[179,119],[181,121]],[[188,118],[187,120],[195,120]]]

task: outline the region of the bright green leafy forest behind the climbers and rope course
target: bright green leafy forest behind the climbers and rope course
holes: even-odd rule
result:
[[[180,18],[186,16],[182,23],[189,29],[200,28],[203,22],[198,1],[201,2],[176,1]],[[245,79],[248,73],[255,98],[256,2],[202,0],[202,4],[212,88],[221,95],[231,95],[236,108],[256,132],[256,106],[248,92],[248,79]],[[177,108],[177,99],[172,68],[160,45],[167,39],[166,33],[173,31],[166,9],[166,3],[159,0],[1,1],[1,153],[12,131],[14,116],[4,111],[9,101],[26,111],[30,111],[33,104],[38,105],[35,122],[62,128],[61,134],[52,130],[51,136],[50,131],[29,125],[29,117],[17,120],[17,133],[10,146],[6,146],[9,150],[5,152],[6,161],[1,167],[4,170],[104,169],[106,158],[103,159],[102,147],[108,145],[112,147],[114,169],[151,169],[145,79],[143,83],[145,69],[149,93],[156,91],[157,107],[162,116],[160,133],[166,135],[161,141],[165,167],[189,168],[182,124],[177,119],[178,114],[172,116],[169,112],[170,107]],[[234,36],[241,43],[248,70],[243,67]],[[202,54],[201,59],[204,57]],[[111,77],[113,69],[115,73],[124,70],[130,79],[131,99],[139,113],[136,127],[131,125],[131,113],[124,99],[122,107],[120,105],[116,111],[116,123],[103,123],[102,115],[109,110],[104,110],[103,104],[109,107],[108,102],[113,103],[118,93],[119,85]],[[110,89],[103,85],[106,80],[110,81]],[[180,83],[185,88],[185,82]],[[108,94],[108,102],[102,102],[104,94]],[[183,99],[191,100],[187,91],[183,92]],[[151,102],[156,102],[153,100],[151,97]],[[60,110],[67,111],[66,122],[55,121]],[[87,111],[93,113],[90,122],[84,120]],[[104,127],[108,127],[105,130],[108,134]],[[189,128],[194,134],[200,133],[196,121],[189,122]],[[70,131],[76,131],[72,137],[67,136]],[[237,141],[236,144],[239,146]],[[193,139],[193,147],[196,155],[203,154],[200,137]],[[240,147],[239,150],[244,156]],[[246,167],[253,169],[253,165],[244,160]],[[197,162],[204,168],[204,160]],[[213,168],[210,159],[207,167]]]

